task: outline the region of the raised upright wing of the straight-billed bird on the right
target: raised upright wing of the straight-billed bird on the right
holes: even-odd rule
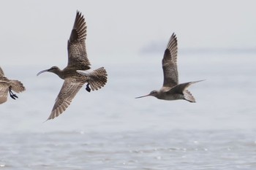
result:
[[[163,87],[174,87],[178,85],[177,69],[178,44],[176,35],[173,33],[167,44],[164,58],[162,58],[162,69],[164,72]]]

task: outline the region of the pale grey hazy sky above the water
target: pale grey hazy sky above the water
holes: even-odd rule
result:
[[[163,53],[173,32],[181,50],[256,49],[255,7],[249,0],[4,1],[0,65],[64,67],[77,10],[86,18],[89,58],[102,63]]]

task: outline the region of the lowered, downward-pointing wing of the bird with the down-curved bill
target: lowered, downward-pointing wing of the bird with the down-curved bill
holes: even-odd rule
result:
[[[48,120],[58,117],[67,109],[67,107],[69,107],[72,99],[75,97],[76,93],[78,93],[80,88],[82,88],[83,84],[83,82],[78,82],[73,78],[67,78],[64,80]]]

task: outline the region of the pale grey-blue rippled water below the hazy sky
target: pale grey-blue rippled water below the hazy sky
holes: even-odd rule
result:
[[[180,82],[206,79],[197,103],[135,99],[162,86],[161,58],[102,61],[108,85],[45,123],[63,80],[36,74],[58,63],[2,66],[27,90],[0,106],[0,169],[256,169],[255,56],[181,55]]]

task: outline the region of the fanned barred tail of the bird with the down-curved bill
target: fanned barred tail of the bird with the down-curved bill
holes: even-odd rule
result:
[[[108,80],[107,76],[108,74],[104,67],[100,67],[99,69],[95,69],[91,72],[89,74],[91,90],[98,90],[99,88],[102,88]]]

